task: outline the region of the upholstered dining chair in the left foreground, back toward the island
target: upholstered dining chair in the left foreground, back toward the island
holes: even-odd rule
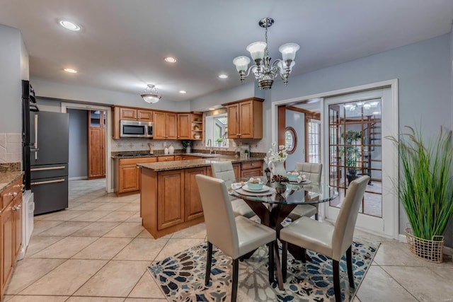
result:
[[[239,257],[268,244],[269,282],[274,279],[273,250],[277,234],[273,228],[234,216],[224,180],[207,175],[195,176],[205,215],[207,233],[207,261],[205,285],[209,284],[212,265],[212,245],[233,258],[231,301],[236,301],[239,279]]]

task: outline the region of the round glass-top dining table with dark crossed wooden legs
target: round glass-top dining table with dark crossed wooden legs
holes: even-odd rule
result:
[[[262,177],[265,180],[264,177]],[[229,187],[232,197],[243,199],[260,218],[265,226],[275,228],[277,238],[280,238],[280,230],[284,227],[289,213],[299,204],[321,204],[338,197],[338,192],[323,183],[313,183],[310,180],[302,182],[287,182],[285,185],[265,182],[262,190],[250,190],[246,185],[248,178],[241,178]],[[241,184],[241,185],[239,185]],[[240,186],[240,187],[239,187]],[[283,223],[285,224],[285,223]],[[294,258],[301,260],[300,248],[289,245],[288,251]],[[253,254],[253,252],[251,252]],[[250,256],[250,255],[249,255]],[[280,256],[277,246],[274,251],[275,265],[277,269],[277,281],[280,290],[283,289]],[[272,273],[272,272],[271,272]]]

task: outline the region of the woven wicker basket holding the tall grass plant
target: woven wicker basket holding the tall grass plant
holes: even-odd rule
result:
[[[412,229],[407,227],[406,240],[413,255],[428,262],[442,262],[444,236],[432,236],[431,240],[426,240],[413,236]]]

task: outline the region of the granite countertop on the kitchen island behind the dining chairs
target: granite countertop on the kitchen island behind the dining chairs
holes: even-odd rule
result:
[[[217,156],[215,158],[201,158],[193,159],[190,161],[164,161],[160,163],[139,163],[139,167],[154,170],[156,172],[166,170],[179,170],[197,167],[207,167],[211,163],[218,163],[219,161],[231,161],[231,163],[246,163],[249,161],[262,161],[263,158],[252,157],[250,159],[236,158],[235,156]]]

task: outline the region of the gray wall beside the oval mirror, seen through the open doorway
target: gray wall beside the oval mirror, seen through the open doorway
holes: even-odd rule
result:
[[[294,153],[289,154],[286,161],[286,170],[293,170],[296,162],[305,161],[305,115],[302,112],[286,110],[286,127],[293,127],[297,134],[297,147]]]

